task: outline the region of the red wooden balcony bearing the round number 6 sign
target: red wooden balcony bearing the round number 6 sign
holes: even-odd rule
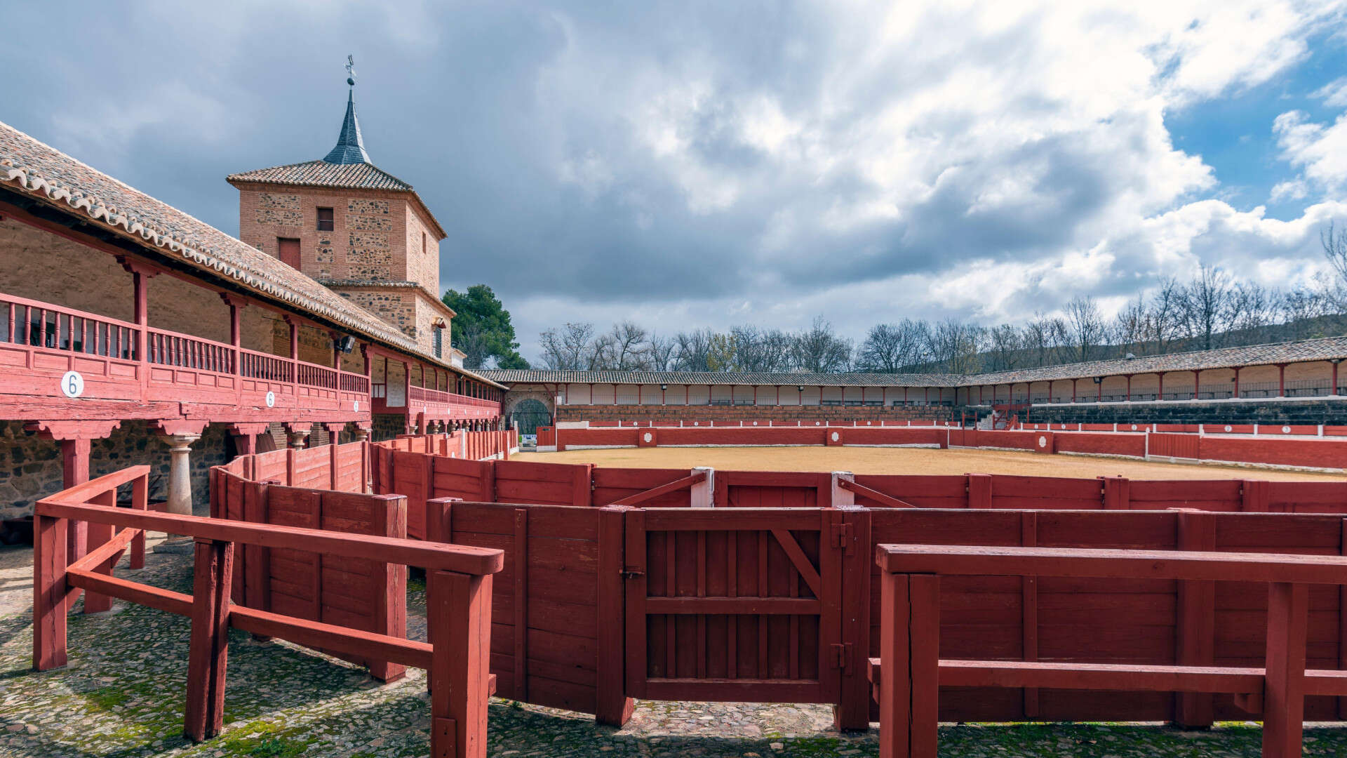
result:
[[[69,371],[84,380],[78,399],[62,387]],[[180,403],[187,415],[229,421],[354,421],[370,410],[369,378],[361,374],[5,294],[3,395],[26,395],[35,417],[86,401]]]

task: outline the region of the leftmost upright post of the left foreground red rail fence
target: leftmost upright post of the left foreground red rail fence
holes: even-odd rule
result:
[[[38,514],[32,525],[32,668],[66,665],[66,531],[69,522]]]

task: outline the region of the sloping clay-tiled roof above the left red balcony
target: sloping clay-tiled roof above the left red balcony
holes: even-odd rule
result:
[[[0,121],[0,185],[40,198],[160,255],[442,366],[368,310],[260,250]]]

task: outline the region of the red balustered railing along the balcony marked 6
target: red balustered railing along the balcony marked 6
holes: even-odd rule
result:
[[[143,348],[141,337],[144,337]],[[230,383],[225,376],[241,376],[265,383],[308,387],[310,391],[303,392],[306,398],[317,397],[314,391],[326,390],[329,405],[339,405],[341,392],[369,395],[369,378],[361,374],[349,374],[326,366],[5,294],[0,294],[0,344],[22,345],[28,352],[66,355],[70,367],[75,366],[77,356],[85,356],[109,359],[123,367],[144,363],[151,367],[221,375],[220,380],[211,380],[209,387],[193,382],[185,384],[183,391],[228,394],[232,387],[233,392],[238,392],[240,383]],[[85,360],[86,366],[88,363]],[[43,364],[40,370],[48,371],[53,366]],[[39,370],[36,363],[30,364],[30,368]],[[123,386],[120,391],[102,397],[129,399],[128,387],[139,382],[133,380],[128,371],[131,370],[104,370],[102,375],[90,376],[90,380],[104,387]],[[298,397],[295,392],[291,395]]]

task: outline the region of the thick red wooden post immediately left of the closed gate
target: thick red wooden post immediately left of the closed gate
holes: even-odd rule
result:
[[[620,727],[632,719],[636,701],[622,688],[622,569],[625,506],[598,511],[598,661],[594,720]]]

